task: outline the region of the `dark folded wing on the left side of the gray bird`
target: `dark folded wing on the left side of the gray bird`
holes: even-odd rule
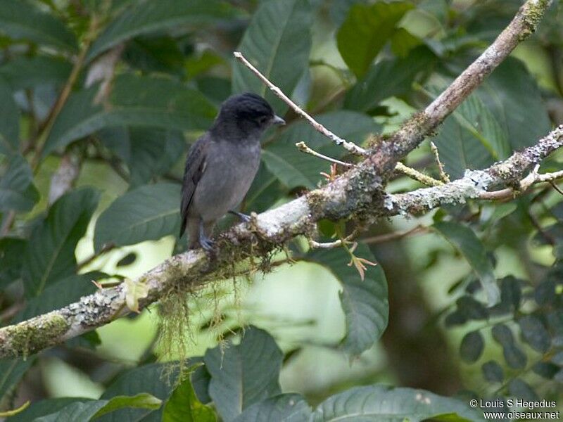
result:
[[[186,230],[188,208],[191,204],[191,199],[194,198],[198,181],[205,171],[205,151],[207,150],[208,144],[208,136],[202,136],[191,146],[188,158],[186,159],[184,181],[182,184],[182,205],[180,207],[180,211],[182,212],[182,229],[180,229],[180,236],[182,236]]]

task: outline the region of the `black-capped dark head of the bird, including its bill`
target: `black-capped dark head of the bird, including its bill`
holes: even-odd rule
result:
[[[260,137],[272,124],[285,124],[275,115],[272,106],[257,94],[246,92],[227,98],[222,103],[213,129],[221,131],[238,130],[241,136]]]

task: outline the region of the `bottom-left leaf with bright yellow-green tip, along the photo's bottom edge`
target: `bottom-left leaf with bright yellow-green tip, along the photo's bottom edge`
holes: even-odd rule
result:
[[[35,419],[37,422],[75,422],[91,421],[112,411],[131,407],[136,409],[155,410],[160,407],[161,400],[146,392],[135,396],[118,396],[110,400],[78,399],[67,404],[55,413]]]

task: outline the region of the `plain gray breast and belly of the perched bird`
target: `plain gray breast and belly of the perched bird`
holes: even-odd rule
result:
[[[260,165],[260,143],[217,142],[205,155],[205,168],[194,193],[194,213],[211,221],[243,200]]]

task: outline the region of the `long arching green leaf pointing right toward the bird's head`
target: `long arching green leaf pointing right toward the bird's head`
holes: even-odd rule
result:
[[[43,155],[104,127],[135,125],[164,129],[206,129],[215,107],[184,84],[164,77],[120,75],[106,101],[94,103],[98,87],[68,99],[46,140]]]

